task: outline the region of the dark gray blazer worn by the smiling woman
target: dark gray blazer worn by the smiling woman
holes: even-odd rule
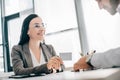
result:
[[[51,57],[56,56],[56,52],[51,45],[40,44],[45,61],[47,62]],[[30,54],[30,50],[28,47],[28,43],[21,45],[16,45],[12,48],[11,52],[13,71],[16,75],[29,75],[31,73],[41,74],[46,73],[49,74],[49,70],[47,69],[47,63],[33,67],[32,58]]]

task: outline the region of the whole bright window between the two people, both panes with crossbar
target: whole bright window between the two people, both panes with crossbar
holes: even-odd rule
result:
[[[57,55],[69,56],[64,57],[65,66],[73,66],[81,52],[74,0],[35,0],[35,13],[47,24],[46,43]]]

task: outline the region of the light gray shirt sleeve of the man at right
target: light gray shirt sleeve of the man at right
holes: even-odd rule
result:
[[[103,53],[95,53],[91,58],[91,64],[95,68],[120,67],[120,47]]]

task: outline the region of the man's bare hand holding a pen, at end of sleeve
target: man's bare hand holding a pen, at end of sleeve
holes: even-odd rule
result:
[[[89,66],[87,63],[86,63],[86,57],[87,56],[83,56],[82,58],[80,58],[75,64],[74,64],[74,71],[79,71],[79,69],[90,69],[91,66]]]

